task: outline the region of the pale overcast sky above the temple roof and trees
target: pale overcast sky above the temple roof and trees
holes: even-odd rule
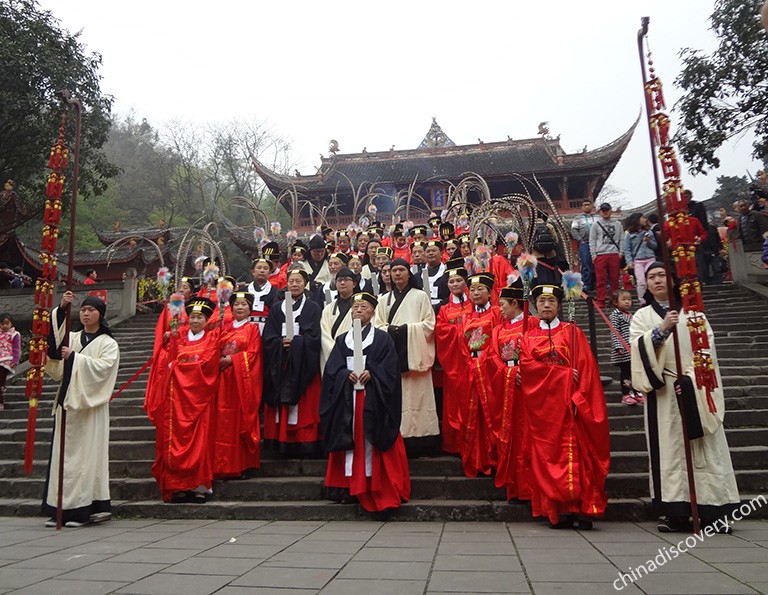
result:
[[[715,45],[713,3],[41,0],[102,54],[118,114],[263,121],[305,174],[330,139],[342,153],[415,148],[433,116],[456,144],[530,138],[548,121],[566,152],[598,148],[640,113],[640,17],[672,104],[679,50]],[[654,197],[644,118],[608,180],[627,206]],[[751,138],[733,142],[719,170],[683,182],[708,198],[718,175],[759,167],[750,152]]]

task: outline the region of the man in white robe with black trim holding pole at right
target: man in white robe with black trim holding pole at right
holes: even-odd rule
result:
[[[664,515],[660,532],[689,531],[690,493],[683,444],[680,410],[675,397],[677,380],[672,329],[677,327],[683,381],[683,395],[691,404],[685,408],[693,476],[701,525],[730,532],[716,523],[739,504],[728,442],[723,428],[725,399],[717,363],[712,328],[706,323],[710,355],[718,387],[707,398],[706,389],[696,387],[693,347],[688,330],[689,313],[669,309],[667,273],[660,262],[646,271],[646,305],[632,318],[632,386],[646,393],[645,431],[650,458],[651,497]]]

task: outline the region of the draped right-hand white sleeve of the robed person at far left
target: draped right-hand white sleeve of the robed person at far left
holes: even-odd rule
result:
[[[71,357],[72,376],[64,408],[91,409],[108,403],[120,366],[117,341],[109,335],[100,335],[89,345],[87,353],[77,352]]]

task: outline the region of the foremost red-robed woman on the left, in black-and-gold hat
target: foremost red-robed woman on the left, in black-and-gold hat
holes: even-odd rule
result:
[[[206,330],[215,304],[194,298],[189,326],[172,334],[164,399],[155,410],[152,475],[164,502],[203,504],[212,493],[210,421],[219,380],[219,329]]]

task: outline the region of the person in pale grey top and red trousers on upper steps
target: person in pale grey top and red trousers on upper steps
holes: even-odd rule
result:
[[[607,202],[600,205],[600,218],[589,230],[589,251],[595,265],[597,304],[607,306],[607,290],[619,288],[621,253],[624,250],[624,228],[620,221],[611,219],[612,208]]]

